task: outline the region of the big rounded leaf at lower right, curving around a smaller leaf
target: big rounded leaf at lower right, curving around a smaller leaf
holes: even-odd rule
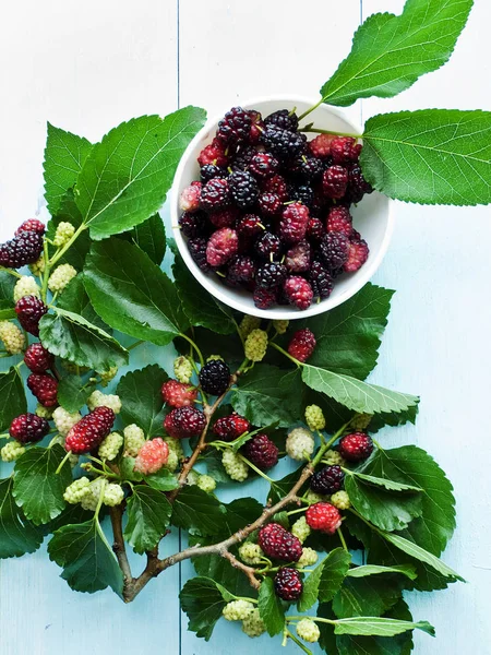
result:
[[[423,489],[421,515],[409,524],[407,534],[439,556],[455,529],[455,499],[452,484],[433,457],[416,445],[378,450],[360,471]]]

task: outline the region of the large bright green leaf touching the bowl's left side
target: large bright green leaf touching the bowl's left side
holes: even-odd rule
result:
[[[123,122],[97,143],[82,167],[75,201],[93,239],[146,221],[163,205],[185,147],[205,111],[184,107],[165,117]]]

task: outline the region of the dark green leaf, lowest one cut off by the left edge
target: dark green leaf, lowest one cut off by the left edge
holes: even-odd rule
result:
[[[13,479],[0,480],[0,559],[34,552],[43,543],[43,529],[33,525],[16,505]]]

